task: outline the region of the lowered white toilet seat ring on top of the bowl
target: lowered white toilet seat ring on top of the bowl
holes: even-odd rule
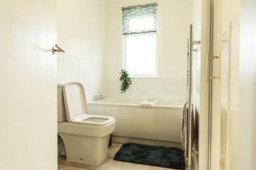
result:
[[[114,117],[109,117],[109,116],[81,114],[76,117],[73,117],[71,123],[93,125],[93,126],[104,126],[112,123],[114,120],[115,120]]]

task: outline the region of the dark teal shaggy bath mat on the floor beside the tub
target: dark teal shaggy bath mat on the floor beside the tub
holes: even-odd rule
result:
[[[123,144],[114,160],[174,169],[185,169],[186,167],[184,152],[179,148],[136,143]]]

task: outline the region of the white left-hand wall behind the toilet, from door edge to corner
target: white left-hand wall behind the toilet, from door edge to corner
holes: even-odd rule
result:
[[[105,0],[57,0],[58,83],[81,82],[87,100],[104,93]]]

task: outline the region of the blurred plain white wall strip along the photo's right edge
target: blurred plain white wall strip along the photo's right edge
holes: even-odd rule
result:
[[[256,1],[241,0],[238,169],[256,169]]]

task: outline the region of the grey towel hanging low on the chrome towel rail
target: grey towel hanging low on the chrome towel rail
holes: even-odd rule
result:
[[[191,119],[192,119],[192,141],[191,141],[191,146],[193,147],[194,141],[196,138],[196,125],[195,125],[195,119],[194,119],[194,113],[193,109],[192,114],[191,114]],[[185,158],[187,158],[187,152],[188,152],[188,102],[184,104],[183,107],[183,114],[182,114],[182,123],[181,123],[181,145],[185,149]]]

